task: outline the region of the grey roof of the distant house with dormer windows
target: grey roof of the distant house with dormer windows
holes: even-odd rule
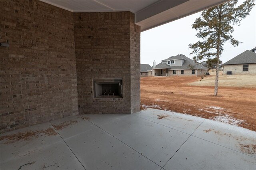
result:
[[[202,64],[198,64],[196,63],[196,61],[194,61],[193,59],[190,59],[188,57],[186,57],[183,54],[180,55],[176,55],[176,56],[172,56],[174,58],[178,58],[179,59],[184,59],[184,63],[181,66],[170,66],[166,63],[159,63],[158,65],[156,65],[156,67],[154,69],[171,69],[171,70],[182,70],[182,69],[190,69],[189,65],[194,66],[193,69],[204,69],[207,70],[206,67],[204,67]],[[182,57],[182,58],[181,58]],[[168,59],[170,59],[171,57],[169,57]],[[166,60],[162,60],[162,61],[166,61]]]

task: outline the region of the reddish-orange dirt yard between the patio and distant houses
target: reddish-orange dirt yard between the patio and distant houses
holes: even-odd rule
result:
[[[204,78],[202,82],[214,81],[213,76]],[[175,111],[256,131],[256,85],[234,87],[235,84],[230,83],[233,87],[219,87],[218,96],[214,96],[213,86],[204,86],[203,83],[200,86],[189,85],[200,79],[141,77],[141,109],[150,107]],[[255,79],[255,75],[249,79]],[[219,81],[222,81],[222,76]]]

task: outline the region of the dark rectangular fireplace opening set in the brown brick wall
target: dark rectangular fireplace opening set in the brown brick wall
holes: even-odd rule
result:
[[[95,98],[122,98],[122,79],[94,79]]]

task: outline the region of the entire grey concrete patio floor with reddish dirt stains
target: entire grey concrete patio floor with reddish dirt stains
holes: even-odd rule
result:
[[[162,113],[169,120],[158,119]],[[67,117],[1,134],[0,144],[4,170],[240,170],[256,164],[254,131],[156,109]],[[250,154],[239,144],[250,146]]]

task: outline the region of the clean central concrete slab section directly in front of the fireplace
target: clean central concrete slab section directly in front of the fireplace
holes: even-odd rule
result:
[[[136,116],[124,117],[100,127],[160,166],[190,136]]]

